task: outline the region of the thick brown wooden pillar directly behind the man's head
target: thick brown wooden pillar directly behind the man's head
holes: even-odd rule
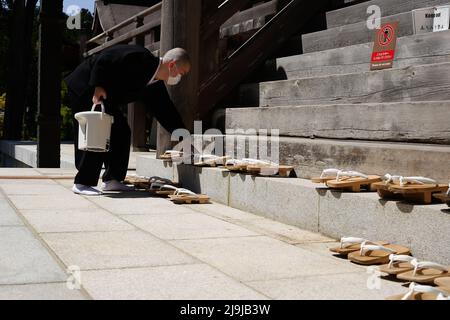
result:
[[[188,129],[193,130],[197,119],[199,86],[199,45],[202,2],[192,0],[163,0],[161,20],[161,55],[168,50],[181,47],[188,51],[192,69],[181,83],[169,87],[170,96],[177,106]],[[158,125],[158,154],[170,149],[170,135]]]

